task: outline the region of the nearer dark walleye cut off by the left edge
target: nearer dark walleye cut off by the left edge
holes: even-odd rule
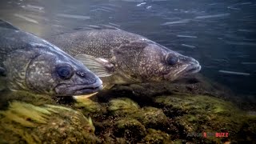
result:
[[[0,74],[10,90],[72,96],[102,90],[102,80],[57,46],[0,20]]]

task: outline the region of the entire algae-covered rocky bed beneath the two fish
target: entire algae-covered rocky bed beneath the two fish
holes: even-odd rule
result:
[[[172,88],[169,92],[168,86],[164,86],[165,91],[159,86],[151,86],[143,94],[140,90],[144,86],[115,87],[91,99],[51,98],[22,91],[7,93],[2,98],[6,98],[8,104],[0,111],[1,142],[219,143],[255,140],[253,111],[247,114],[233,102],[213,97],[203,90],[201,94],[193,90],[184,93],[184,89],[178,92]],[[208,134],[206,138],[204,133]],[[217,138],[216,133],[228,133],[228,136]]]

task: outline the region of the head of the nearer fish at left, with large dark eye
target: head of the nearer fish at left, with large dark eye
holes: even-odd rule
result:
[[[42,51],[26,70],[26,85],[39,94],[72,96],[102,90],[98,76],[61,50]]]

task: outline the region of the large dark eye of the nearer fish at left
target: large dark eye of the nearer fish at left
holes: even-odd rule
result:
[[[62,79],[69,79],[74,74],[74,70],[70,65],[57,66],[57,74]]]

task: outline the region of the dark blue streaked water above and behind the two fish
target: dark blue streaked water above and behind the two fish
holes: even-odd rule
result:
[[[256,1],[4,0],[0,3],[0,18],[42,37],[98,24],[141,34],[196,58],[206,77],[255,99]],[[240,73],[226,74],[219,70]]]

